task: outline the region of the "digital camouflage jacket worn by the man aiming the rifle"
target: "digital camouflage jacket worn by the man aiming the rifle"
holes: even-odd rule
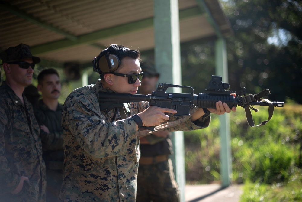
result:
[[[74,90],[63,105],[63,201],[136,200],[140,148],[136,122],[129,116],[147,106],[125,103],[129,118],[122,119],[119,109],[100,111],[99,91],[110,92],[101,80]],[[169,130],[200,128],[188,119]]]

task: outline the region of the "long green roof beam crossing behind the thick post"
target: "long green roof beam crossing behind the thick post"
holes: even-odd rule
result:
[[[179,11],[180,20],[186,18],[192,18],[198,15],[202,15],[203,13],[199,8],[188,8],[182,11]],[[133,33],[135,31],[150,28],[153,26],[153,18],[147,18],[136,22],[131,22],[128,24],[123,24],[120,26],[107,28],[103,30],[98,30],[92,33],[83,34],[78,36],[77,41],[70,41],[67,39],[53,41],[46,44],[41,44],[37,46],[31,47],[32,54],[40,55],[46,54],[50,52],[54,52],[57,50],[64,50],[70,47],[76,47],[83,44],[94,44],[96,41],[101,39],[106,39],[108,37],[120,36],[123,34]]]

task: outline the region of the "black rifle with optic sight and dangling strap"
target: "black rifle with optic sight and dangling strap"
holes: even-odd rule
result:
[[[189,88],[192,90],[191,93],[167,93],[168,88]],[[284,102],[271,102],[267,97],[270,92],[269,90],[263,90],[257,95],[246,95],[246,88],[243,88],[234,97],[230,93],[236,93],[235,91],[229,91],[230,85],[223,83],[221,76],[212,76],[209,82],[208,89],[205,89],[208,93],[194,94],[194,89],[190,86],[179,86],[168,83],[159,83],[156,91],[149,95],[139,94],[128,94],[128,93],[98,93],[98,99],[100,109],[110,111],[115,107],[123,107],[123,103],[148,101],[150,106],[158,106],[163,108],[175,109],[177,111],[174,116],[189,116],[190,109],[194,106],[198,108],[214,108],[216,109],[215,103],[219,100],[226,103],[230,109],[235,106],[241,106],[245,109],[246,118],[250,126],[265,125],[272,117],[274,107],[283,107]],[[255,112],[253,106],[268,106],[268,120],[263,121],[259,125],[255,125],[250,109]]]

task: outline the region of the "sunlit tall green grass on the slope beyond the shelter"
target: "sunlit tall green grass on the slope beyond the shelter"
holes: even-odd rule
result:
[[[252,112],[255,124],[267,120],[267,110],[267,107],[259,107],[259,112]],[[285,104],[284,108],[275,108],[272,119],[260,127],[250,127],[247,124],[245,112],[241,107],[237,107],[237,112],[230,114],[232,182],[254,187],[246,190],[257,190],[259,198],[255,201],[261,201],[260,199],[269,194],[263,195],[261,191],[276,191],[281,185],[290,187],[293,183],[298,184],[298,187],[294,194],[291,194],[292,198],[301,195],[301,178],[293,177],[302,173],[301,118],[302,106],[297,104]],[[208,128],[185,132],[187,183],[209,184],[220,180],[218,127],[218,116],[212,115]],[[274,194],[274,191],[271,194]],[[253,195],[256,197],[255,193]],[[254,200],[249,198],[243,201]]]

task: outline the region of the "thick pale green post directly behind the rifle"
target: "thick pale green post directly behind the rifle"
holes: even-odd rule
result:
[[[154,55],[159,82],[181,85],[179,8],[176,0],[154,0]],[[177,92],[176,92],[177,91]],[[173,89],[181,93],[181,89]],[[185,157],[182,131],[173,132],[174,154],[171,156],[180,201],[185,201]]]

